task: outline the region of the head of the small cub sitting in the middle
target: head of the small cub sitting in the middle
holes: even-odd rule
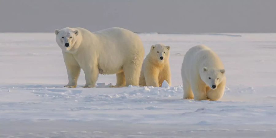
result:
[[[170,46],[165,46],[163,44],[155,44],[151,46],[150,56],[151,59],[157,62],[167,61],[170,57]]]

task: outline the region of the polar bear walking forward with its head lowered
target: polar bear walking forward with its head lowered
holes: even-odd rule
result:
[[[181,68],[183,98],[219,100],[225,89],[226,77],[223,63],[215,52],[205,45],[190,48]]]

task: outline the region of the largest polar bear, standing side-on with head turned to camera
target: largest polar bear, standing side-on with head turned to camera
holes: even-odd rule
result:
[[[145,52],[137,34],[117,27],[94,33],[83,28],[64,28],[55,33],[67,68],[69,82],[65,87],[77,86],[80,69],[85,74],[83,87],[95,87],[99,73],[116,74],[115,87],[139,85]]]

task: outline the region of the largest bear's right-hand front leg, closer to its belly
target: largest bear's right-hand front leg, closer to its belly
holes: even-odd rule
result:
[[[84,75],[85,75],[85,86],[82,86],[83,88],[92,88],[95,87],[95,84],[97,82],[98,76],[99,76],[99,69],[97,66],[93,66],[91,68],[84,69]]]

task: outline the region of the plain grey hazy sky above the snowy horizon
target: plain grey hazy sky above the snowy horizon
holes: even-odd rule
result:
[[[0,0],[0,32],[276,32],[276,0]]]

